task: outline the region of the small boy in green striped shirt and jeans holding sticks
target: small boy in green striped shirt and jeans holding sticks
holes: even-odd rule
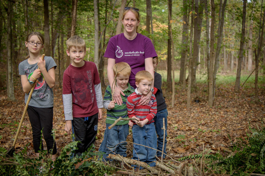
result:
[[[117,73],[115,89],[121,89],[124,96],[121,94],[122,105],[118,105],[112,101],[110,85],[108,85],[105,91],[103,106],[107,109],[106,130],[104,133],[104,139],[99,148],[99,151],[106,153],[106,155],[103,156],[105,160],[109,160],[106,156],[114,153],[123,157],[127,156],[127,142],[123,141],[126,141],[126,138],[129,135],[129,121],[121,120],[113,128],[108,129],[108,127],[120,117],[128,118],[126,101],[127,97],[134,92],[134,88],[128,82],[131,74],[131,67],[129,64],[125,62],[116,63],[113,66],[113,73],[114,77]]]

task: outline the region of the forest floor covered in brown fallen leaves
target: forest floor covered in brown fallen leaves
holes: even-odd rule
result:
[[[263,78],[264,79],[264,78]],[[165,83],[164,83],[165,84]],[[164,91],[167,109],[167,155],[177,160],[188,155],[201,154],[209,149],[211,154],[228,155],[239,138],[244,139],[251,133],[251,128],[264,127],[265,120],[265,81],[259,84],[259,103],[255,103],[254,83],[247,82],[240,93],[234,93],[234,84],[217,84],[213,107],[207,106],[207,85],[197,84],[200,91],[192,94],[199,97],[200,102],[192,99],[191,108],[186,107],[187,91],[176,85],[174,107],[171,107],[171,92]],[[15,78],[15,102],[7,101],[6,90],[0,90],[0,147],[10,149],[14,141],[18,124],[25,107],[24,93],[20,79]],[[72,139],[64,131],[64,110],[62,89],[54,89],[54,122],[58,151]],[[106,111],[103,120],[98,124],[96,149],[103,140]],[[130,128],[127,141],[132,142]],[[20,135],[16,142],[16,152],[28,146],[28,156],[33,156],[32,131],[28,116],[25,116]],[[45,147],[44,142],[44,147]],[[127,145],[128,158],[132,156],[132,145]]]

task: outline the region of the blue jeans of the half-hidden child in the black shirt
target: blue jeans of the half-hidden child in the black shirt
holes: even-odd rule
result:
[[[162,155],[162,149],[163,149],[163,140],[164,140],[164,129],[163,128],[163,118],[165,118],[165,128],[167,131],[167,109],[162,109],[160,111],[157,111],[156,116],[154,117],[154,124],[156,125],[156,134],[158,135],[157,138],[157,156]],[[167,132],[165,131],[165,144],[164,144],[164,154],[166,154],[166,144],[167,144]],[[163,158],[166,157],[166,155],[163,154]]]

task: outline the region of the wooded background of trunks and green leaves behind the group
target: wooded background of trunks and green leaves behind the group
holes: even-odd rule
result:
[[[166,89],[175,80],[187,89],[187,107],[196,87],[196,74],[207,75],[208,105],[213,106],[217,73],[236,74],[234,91],[240,91],[241,70],[255,69],[255,99],[258,102],[258,73],[264,74],[264,7],[260,0],[168,0],[87,1],[43,0],[0,1],[0,87],[15,101],[14,77],[25,59],[25,38],[31,31],[45,36],[45,54],[57,63],[56,80],[70,64],[66,40],[80,35],[86,41],[86,60],[96,63],[103,91],[106,84],[103,57],[109,38],[122,31],[125,6],[140,9],[139,33],[148,36],[166,70]],[[120,15],[120,16],[119,16]],[[175,77],[175,70],[179,75]],[[236,71],[236,73],[235,73]],[[172,74],[174,73],[174,74]],[[191,76],[188,76],[191,75]]]

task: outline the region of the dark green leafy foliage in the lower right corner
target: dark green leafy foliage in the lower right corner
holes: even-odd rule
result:
[[[265,129],[260,131],[252,130],[252,135],[246,139],[239,139],[232,148],[235,155],[224,158],[223,163],[219,163],[220,173],[232,175],[249,175],[254,172],[265,174]]]

